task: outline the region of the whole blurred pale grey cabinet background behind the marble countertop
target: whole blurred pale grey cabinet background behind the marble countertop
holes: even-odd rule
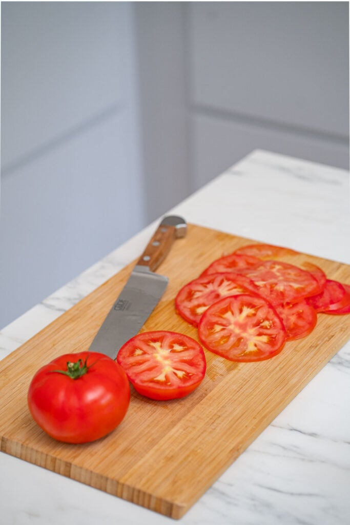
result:
[[[348,169],[347,2],[2,2],[0,328],[261,148]]]

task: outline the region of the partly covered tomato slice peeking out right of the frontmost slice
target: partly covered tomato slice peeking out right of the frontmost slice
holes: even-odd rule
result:
[[[306,300],[292,304],[279,304],[275,306],[275,310],[283,321],[287,341],[309,335],[316,326],[316,310]]]

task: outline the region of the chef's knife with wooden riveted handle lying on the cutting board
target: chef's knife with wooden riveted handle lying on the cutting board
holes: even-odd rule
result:
[[[101,352],[115,359],[121,346],[139,332],[168,284],[168,278],[155,274],[154,270],[164,260],[174,240],[184,237],[186,230],[182,217],[163,218],[93,339],[90,352]]]

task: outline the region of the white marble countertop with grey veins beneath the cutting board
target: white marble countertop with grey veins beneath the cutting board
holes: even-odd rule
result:
[[[348,188],[343,170],[257,150],[170,212],[349,263]],[[0,359],[139,256],[156,224],[5,327]],[[349,489],[347,343],[181,523],[345,525],[350,523]],[[1,453],[0,522],[165,525],[174,520]]]

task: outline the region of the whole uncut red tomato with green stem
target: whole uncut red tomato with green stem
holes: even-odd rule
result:
[[[66,443],[87,443],[109,434],[121,423],[129,402],[122,367],[98,352],[61,355],[38,370],[28,390],[36,423]]]

